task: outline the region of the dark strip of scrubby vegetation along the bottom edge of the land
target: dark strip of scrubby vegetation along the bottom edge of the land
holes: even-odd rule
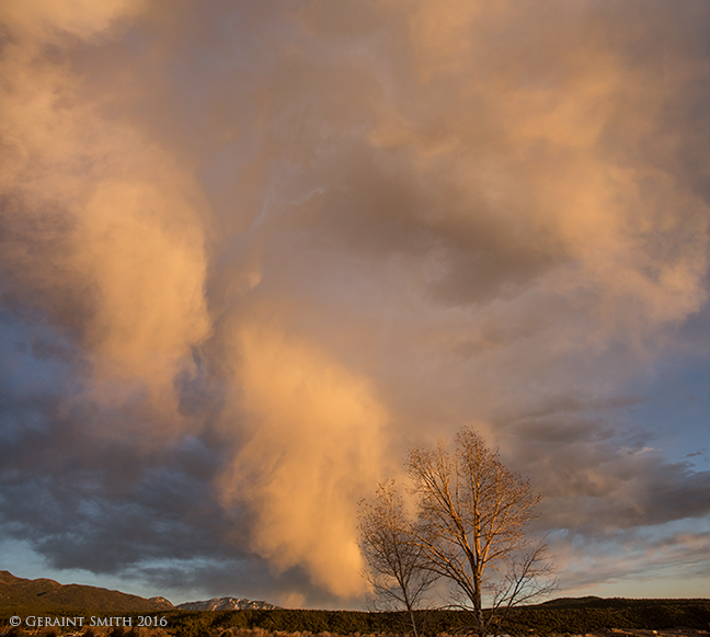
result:
[[[68,611],[62,608],[38,611],[37,607],[23,611],[18,607],[0,610],[0,633],[12,633],[16,637],[28,632],[11,629],[12,615],[51,616],[111,616],[112,613],[96,611]],[[220,611],[190,612],[168,611],[159,613],[168,619],[161,628],[130,629],[100,628],[84,626],[87,637],[264,637],[265,634],[304,635],[396,635],[410,632],[406,613],[367,613],[357,611]],[[471,633],[473,619],[463,611],[417,611],[419,624],[425,635],[460,635]],[[125,614],[137,617],[138,614]],[[710,600],[625,600],[583,598],[554,600],[534,606],[522,606],[503,623],[497,632],[509,635],[524,634],[574,634],[598,633],[611,628],[663,630],[669,628],[710,628]],[[71,630],[39,628],[39,635],[59,635]],[[87,634],[88,633],[88,634]]]

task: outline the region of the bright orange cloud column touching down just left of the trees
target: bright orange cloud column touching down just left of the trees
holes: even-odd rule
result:
[[[356,503],[381,479],[385,410],[366,383],[279,330],[243,327],[236,340],[249,425],[224,499],[254,511],[251,547],[275,568],[306,564],[335,594],[360,594]]]

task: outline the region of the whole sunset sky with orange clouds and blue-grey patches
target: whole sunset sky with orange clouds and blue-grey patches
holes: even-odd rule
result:
[[[0,568],[358,608],[471,426],[558,595],[710,596],[710,3],[0,4]]]

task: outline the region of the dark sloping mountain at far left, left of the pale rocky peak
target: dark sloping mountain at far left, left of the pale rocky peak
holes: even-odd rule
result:
[[[27,580],[0,571],[0,607],[95,608],[106,612],[139,613],[170,611],[165,598],[146,600],[119,591],[81,584],[60,584],[54,580]]]

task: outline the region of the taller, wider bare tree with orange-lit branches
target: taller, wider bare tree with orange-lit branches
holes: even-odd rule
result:
[[[428,568],[462,594],[481,637],[515,604],[556,588],[546,544],[530,547],[526,537],[541,493],[509,471],[473,430],[457,434],[453,456],[442,442],[412,450],[408,469],[419,496],[416,543]],[[484,592],[492,605],[488,619]]]

